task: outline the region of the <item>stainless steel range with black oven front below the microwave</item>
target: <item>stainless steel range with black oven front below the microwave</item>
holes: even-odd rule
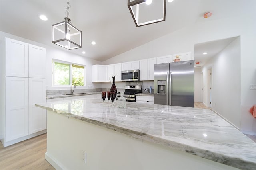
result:
[[[142,93],[142,85],[129,85],[124,86],[124,97],[127,102],[136,102],[136,93]],[[116,95],[116,100],[121,97],[118,92]]]

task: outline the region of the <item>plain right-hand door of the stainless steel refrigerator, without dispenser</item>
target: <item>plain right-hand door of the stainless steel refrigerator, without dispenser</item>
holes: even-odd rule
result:
[[[170,63],[169,105],[194,107],[194,60]]]

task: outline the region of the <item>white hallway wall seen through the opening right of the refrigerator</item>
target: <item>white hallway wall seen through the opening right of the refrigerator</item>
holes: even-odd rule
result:
[[[207,73],[208,68],[212,67],[212,109],[238,128],[241,127],[240,61],[240,37],[238,37],[202,68],[204,75],[206,75],[204,86],[208,87]],[[207,94],[207,90],[205,94]],[[206,101],[207,98],[204,98],[204,102]]]

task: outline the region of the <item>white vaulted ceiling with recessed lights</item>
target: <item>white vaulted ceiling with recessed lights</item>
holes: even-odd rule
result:
[[[98,61],[196,22],[239,15],[243,4],[242,0],[174,0],[167,2],[166,21],[136,27],[127,0],[69,2],[72,24],[82,30],[82,48],[70,52]],[[66,0],[0,0],[0,31],[68,51],[51,43],[52,24],[64,21],[66,6]],[[202,15],[208,11],[213,15],[206,20]],[[40,14],[48,20],[40,20]]]

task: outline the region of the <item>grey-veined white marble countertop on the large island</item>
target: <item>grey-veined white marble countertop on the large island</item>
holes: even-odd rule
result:
[[[89,98],[36,106],[243,170],[256,167],[256,143],[209,109],[134,102],[121,109]]]

